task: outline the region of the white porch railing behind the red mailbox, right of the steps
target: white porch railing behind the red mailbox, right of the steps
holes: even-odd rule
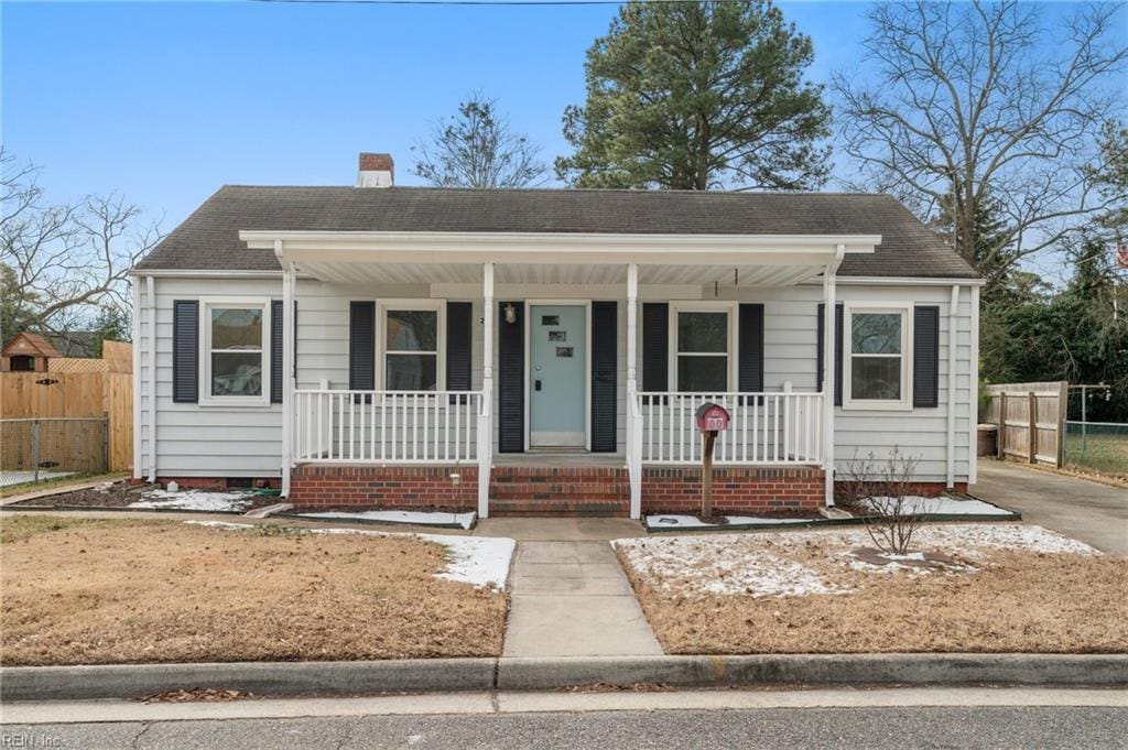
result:
[[[716,465],[795,465],[822,461],[822,394],[637,392],[631,425],[638,464],[700,464],[702,439],[694,414],[706,402],[728,409],[729,429],[717,435]]]

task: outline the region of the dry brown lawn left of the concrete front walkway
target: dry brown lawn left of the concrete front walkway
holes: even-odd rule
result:
[[[6,665],[501,653],[506,595],[409,537],[20,515],[0,542]]]

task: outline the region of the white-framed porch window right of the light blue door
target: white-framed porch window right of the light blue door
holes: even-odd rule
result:
[[[733,305],[670,305],[670,387],[681,392],[726,392],[735,346]]]

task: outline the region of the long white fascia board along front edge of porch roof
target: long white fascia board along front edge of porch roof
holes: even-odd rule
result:
[[[651,263],[699,263],[703,256],[724,255],[726,263],[734,255],[752,261],[757,256],[834,254],[838,246],[847,253],[873,253],[881,244],[880,235],[611,235],[611,233],[540,233],[540,232],[347,232],[347,231],[268,231],[243,230],[239,239],[254,249],[275,248],[283,242],[283,255],[300,259],[306,254],[338,261],[399,262],[400,257],[416,263],[536,262],[552,255],[574,255],[578,262],[590,263],[591,256],[611,255],[614,263],[638,261],[642,254]],[[619,255],[622,254],[622,255]],[[628,257],[629,256],[629,257]],[[602,261],[600,261],[602,262]]]

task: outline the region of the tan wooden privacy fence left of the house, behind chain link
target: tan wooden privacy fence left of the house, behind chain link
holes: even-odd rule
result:
[[[108,420],[109,470],[133,464],[133,376],[127,372],[5,372],[0,418]],[[9,435],[12,440],[15,434]],[[6,441],[7,442],[7,441]]]

